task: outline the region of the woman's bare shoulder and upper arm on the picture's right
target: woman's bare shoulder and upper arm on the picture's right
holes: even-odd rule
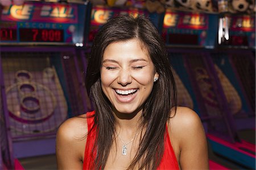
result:
[[[181,169],[208,169],[207,140],[199,115],[188,107],[176,107],[171,117],[168,132]]]

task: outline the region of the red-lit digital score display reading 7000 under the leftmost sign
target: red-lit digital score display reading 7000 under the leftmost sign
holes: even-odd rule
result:
[[[61,29],[19,28],[20,42],[64,42],[64,31]]]

